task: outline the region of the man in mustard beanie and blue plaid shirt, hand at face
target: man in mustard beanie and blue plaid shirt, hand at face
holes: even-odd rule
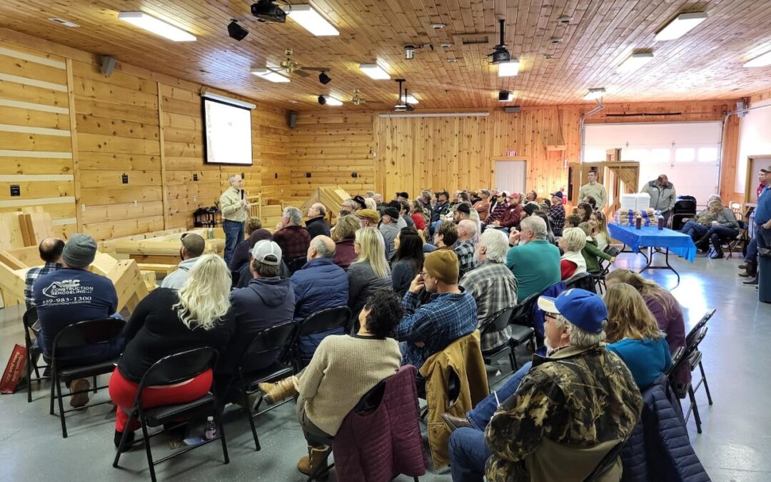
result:
[[[420,290],[431,293],[419,306]],[[420,369],[429,356],[476,329],[476,303],[458,288],[458,257],[453,250],[439,249],[426,255],[423,270],[412,280],[402,298],[404,318],[396,327],[402,343],[402,364]]]

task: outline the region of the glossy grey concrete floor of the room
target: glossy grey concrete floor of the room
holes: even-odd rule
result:
[[[622,254],[619,267],[639,268],[641,257]],[[682,282],[673,293],[693,325],[717,308],[702,343],[704,366],[712,391],[708,406],[697,394],[703,433],[689,432],[696,453],[712,480],[737,482],[771,480],[771,381],[762,373],[771,366],[771,305],[757,302],[756,291],[736,276],[740,259],[708,260],[699,254],[694,264],[675,258],[672,265]],[[665,286],[675,284],[669,271],[646,271]],[[19,308],[0,309],[0,361],[5,363],[14,343],[23,345]],[[520,360],[527,359],[525,352]],[[106,379],[103,381],[106,382]],[[0,480],[149,480],[143,450],[121,457],[113,469],[113,407],[98,406],[67,417],[69,438],[62,439],[59,419],[48,413],[48,385],[35,387],[34,400],[25,393],[0,396]],[[106,391],[96,395],[106,399]],[[234,410],[225,414],[231,463],[223,465],[219,444],[210,444],[157,467],[162,480],[305,480],[295,463],[305,451],[294,407],[285,404],[258,418],[262,450],[254,451],[247,420]],[[426,427],[422,426],[424,436]],[[194,430],[200,432],[200,428]],[[170,439],[157,437],[153,447],[163,454]],[[335,480],[334,475],[330,480]],[[397,480],[411,480],[399,477]],[[450,480],[447,469],[429,470],[421,480]]]

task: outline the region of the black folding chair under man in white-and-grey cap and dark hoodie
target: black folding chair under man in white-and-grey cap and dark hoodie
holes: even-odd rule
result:
[[[297,337],[297,332],[297,323],[291,321],[264,329],[257,335],[254,335],[254,338],[247,346],[244,356],[241,358],[241,363],[237,368],[237,375],[234,377],[233,388],[243,400],[244,410],[246,410],[249,418],[249,426],[251,426],[251,435],[254,437],[254,450],[261,449],[260,440],[257,436],[257,429],[254,427],[254,417],[268,412],[269,410],[273,410],[284,403],[290,402],[291,398],[286,399],[281,403],[276,403],[273,406],[269,406],[267,409],[261,411],[260,405],[262,403],[262,398],[260,398],[258,399],[257,406],[254,407],[253,412],[249,403],[249,396],[259,391],[258,385],[260,383],[280,380],[290,376],[295,372],[295,369],[293,366],[286,365],[278,360],[271,364],[271,366],[252,372],[244,372],[244,366],[249,366],[249,360],[254,359],[254,357],[257,356],[268,353],[275,353],[276,356],[278,356],[281,352],[288,352],[292,342],[294,342]]]

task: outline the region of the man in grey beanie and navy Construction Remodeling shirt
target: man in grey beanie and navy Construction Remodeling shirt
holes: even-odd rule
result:
[[[51,357],[53,341],[66,326],[115,315],[118,295],[113,281],[89,271],[96,257],[96,241],[88,234],[72,234],[62,249],[62,268],[39,276],[32,285],[32,300],[38,310],[40,335],[35,343]],[[82,345],[56,352],[59,366],[89,365],[113,359],[123,351],[125,340]],[[89,403],[87,379],[70,383],[71,406]]]

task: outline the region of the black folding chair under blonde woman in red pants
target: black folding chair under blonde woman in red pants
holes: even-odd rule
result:
[[[153,366],[151,366],[142,376],[139,389],[136,390],[134,404],[129,413],[129,420],[126,422],[126,429],[123,430],[123,437],[120,440],[119,447],[126,445],[126,440],[131,432],[130,427],[134,420],[138,420],[142,426],[142,438],[140,440],[134,440],[131,444],[144,443],[145,451],[147,453],[147,465],[150,467],[150,479],[153,482],[156,480],[156,465],[173,457],[177,457],[178,455],[182,455],[183,453],[187,453],[190,450],[202,447],[207,443],[214,442],[215,440],[221,441],[222,455],[224,456],[225,463],[230,463],[230,458],[227,456],[227,443],[225,443],[221,411],[218,408],[219,404],[217,403],[217,399],[211,392],[192,402],[157,406],[153,408],[145,408],[142,406],[142,392],[144,389],[150,386],[168,386],[174,385],[175,383],[181,383],[185,380],[195,378],[207,370],[214,370],[214,366],[216,365],[217,350],[206,346],[204,348],[197,348],[188,350],[187,352],[164,356],[162,359],[153,363]],[[202,413],[205,409],[210,409],[210,413],[213,413],[214,415],[214,422],[217,424],[217,436],[214,436],[214,438],[209,440],[204,440],[202,443],[185,447],[182,450],[177,450],[160,460],[153,460],[153,452],[150,450],[150,438],[163,433],[165,430],[160,430],[150,435],[147,433],[148,426],[155,427],[161,426],[164,423],[174,423],[176,420],[179,420],[180,417]],[[115,454],[115,460],[113,460],[113,467],[118,467],[120,453],[121,450],[119,448]]]

